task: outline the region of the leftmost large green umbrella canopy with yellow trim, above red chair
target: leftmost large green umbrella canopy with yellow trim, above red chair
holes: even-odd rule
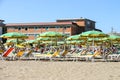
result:
[[[5,34],[1,35],[0,37],[2,37],[2,38],[22,38],[22,39],[28,38],[28,36],[26,36],[23,33],[19,33],[19,32],[5,33]]]

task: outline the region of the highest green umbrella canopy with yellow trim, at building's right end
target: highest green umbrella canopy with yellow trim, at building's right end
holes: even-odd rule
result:
[[[106,37],[108,36],[107,34],[100,32],[100,31],[86,31],[81,34],[82,37]]]

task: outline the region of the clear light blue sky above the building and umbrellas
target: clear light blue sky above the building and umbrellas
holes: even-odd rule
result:
[[[104,33],[120,32],[120,0],[0,0],[4,23],[55,22],[87,18]]]

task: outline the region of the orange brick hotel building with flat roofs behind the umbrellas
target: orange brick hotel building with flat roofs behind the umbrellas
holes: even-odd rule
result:
[[[6,32],[21,32],[34,39],[40,33],[56,31],[66,35],[76,35],[84,31],[99,30],[95,28],[95,21],[85,18],[78,19],[58,19],[56,22],[37,23],[7,23],[1,20],[1,34]],[[99,30],[101,31],[101,30]]]

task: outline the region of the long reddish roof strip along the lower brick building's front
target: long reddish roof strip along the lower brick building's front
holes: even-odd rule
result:
[[[6,26],[72,25],[72,22],[8,23]]]

